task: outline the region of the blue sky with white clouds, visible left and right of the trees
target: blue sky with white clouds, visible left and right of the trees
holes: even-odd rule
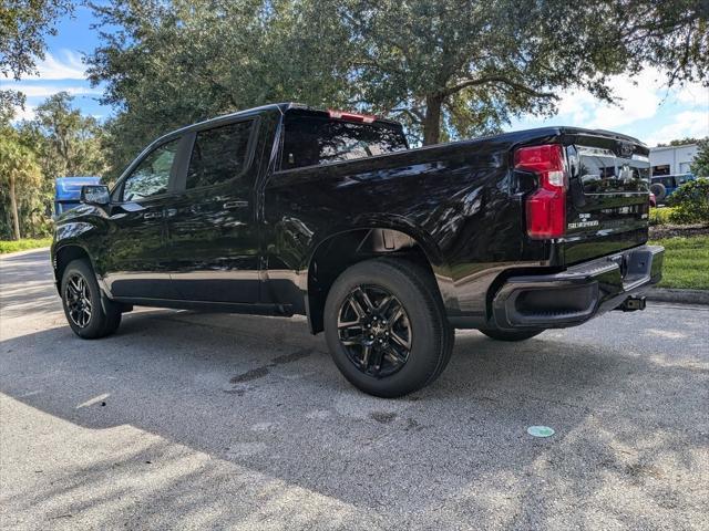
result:
[[[76,7],[72,18],[65,17],[58,34],[48,39],[48,53],[38,63],[39,74],[20,82],[1,80],[3,86],[21,90],[27,95],[27,107],[19,117],[31,117],[33,108],[47,96],[68,91],[84,113],[99,118],[111,114],[99,98],[102,87],[91,87],[85,80],[82,56],[97,44],[97,32],[91,10]],[[572,125],[606,128],[625,133],[653,146],[660,142],[686,136],[709,136],[709,90],[699,84],[667,90],[664,76],[654,69],[645,70],[635,79],[618,76],[610,80],[617,105],[598,102],[585,92],[562,94],[558,113],[551,118],[522,116],[508,129],[524,129],[543,125]]]

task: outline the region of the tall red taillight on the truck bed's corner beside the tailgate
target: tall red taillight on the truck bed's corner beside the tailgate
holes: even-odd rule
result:
[[[514,168],[534,171],[540,188],[526,201],[527,233],[535,240],[566,233],[566,175],[558,144],[522,147],[514,153]]]

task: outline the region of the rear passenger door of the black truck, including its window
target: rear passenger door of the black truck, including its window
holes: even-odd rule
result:
[[[165,214],[169,270],[182,300],[258,302],[257,124],[246,118],[192,134],[181,191]]]

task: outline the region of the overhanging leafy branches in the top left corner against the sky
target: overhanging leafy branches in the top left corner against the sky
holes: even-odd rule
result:
[[[44,39],[56,20],[73,9],[71,0],[9,0],[0,4],[0,74],[19,80],[44,58]],[[17,91],[0,90],[0,113],[24,102]]]

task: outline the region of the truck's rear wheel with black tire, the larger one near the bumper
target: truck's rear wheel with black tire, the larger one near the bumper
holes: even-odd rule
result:
[[[364,301],[359,311],[354,300]],[[432,383],[451,358],[454,334],[431,274],[408,260],[351,266],[325,304],[325,336],[335,364],[373,396],[394,398]]]

